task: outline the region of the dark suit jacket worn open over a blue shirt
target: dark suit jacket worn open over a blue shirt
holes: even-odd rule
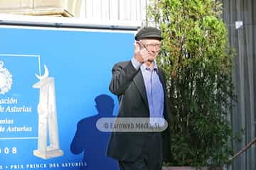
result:
[[[170,113],[166,100],[165,77],[158,69],[159,79],[164,87],[164,118],[169,123]],[[136,70],[132,62],[119,62],[112,69],[110,91],[119,98],[118,118],[149,118],[149,104],[142,71]],[[169,128],[161,132],[164,160],[170,157]],[[112,132],[107,155],[122,161],[134,161],[139,157],[146,140],[146,132]]]

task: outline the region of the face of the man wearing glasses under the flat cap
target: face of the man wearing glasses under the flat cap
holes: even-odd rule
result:
[[[140,40],[143,47],[146,48],[146,50],[149,52],[149,61],[152,62],[156,59],[156,56],[159,54],[159,50],[161,48],[161,42],[160,40],[156,39],[143,39]]]

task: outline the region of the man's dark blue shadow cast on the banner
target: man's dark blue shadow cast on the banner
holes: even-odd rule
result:
[[[81,166],[80,169],[117,169],[117,162],[106,156],[110,132],[100,132],[96,128],[96,122],[100,118],[114,117],[114,100],[112,97],[102,94],[95,98],[95,103],[97,115],[83,118],[78,122],[70,150],[73,154],[83,152],[82,162],[85,162],[86,166]]]

